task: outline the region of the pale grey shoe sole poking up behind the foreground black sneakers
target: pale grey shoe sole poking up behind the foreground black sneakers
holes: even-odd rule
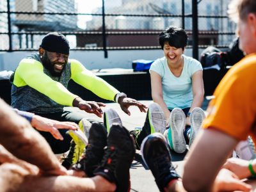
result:
[[[114,109],[106,108],[103,115],[104,126],[107,128],[109,132],[110,127],[116,123],[122,125],[122,121],[120,116],[116,113]]]

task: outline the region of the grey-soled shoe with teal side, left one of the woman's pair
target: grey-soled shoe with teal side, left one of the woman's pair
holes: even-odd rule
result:
[[[164,136],[167,138],[171,149],[179,154],[186,151],[185,126],[185,113],[180,108],[174,108],[170,115],[170,127],[164,132]]]

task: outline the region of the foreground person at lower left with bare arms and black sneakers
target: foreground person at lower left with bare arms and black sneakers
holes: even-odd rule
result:
[[[0,122],[2,191],[129,191],[135,147],[122,125],[111,125],[108,136],[102,124],[92,125],[88,143],[92,150],[86,155],[92,178],[79,178],[72,176],[78,175],[76,170],[61,166],[45,139],[1,99]]]

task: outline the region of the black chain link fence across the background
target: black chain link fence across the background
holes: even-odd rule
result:
[[[158,35],[174,25],[193,45],[192,0],[1,0],[0,51],[37,50],[50,31],[67,35],[73,50],[159,49]],[[198,0],[198,47],[227,48],[236,26],[230,0]],[[92,10],[89,5],[97,4]],[[195,17],[195,16],[194,16]]]

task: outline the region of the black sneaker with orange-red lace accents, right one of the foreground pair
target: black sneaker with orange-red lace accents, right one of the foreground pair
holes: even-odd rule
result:
[[[135,154],[134,142],[122,125],[113,124],[108,136],[108,147],[102,162],[95,170],[109,182],[115,182],[116,191],[130,191],[130,167]]]

